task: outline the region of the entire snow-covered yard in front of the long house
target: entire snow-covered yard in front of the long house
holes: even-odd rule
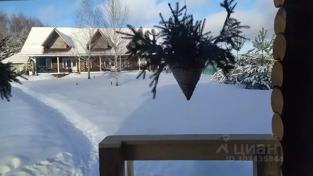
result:
[[[122,74],[120,86],[96,74],[30,76],[0,101],[0,175],[99,175],[97,144],[108,135],[270,134],[271,91],[210,82],[187,101],[171,74],[150,82]],[[251,162],[136,161],[136,176],[252,175]]]

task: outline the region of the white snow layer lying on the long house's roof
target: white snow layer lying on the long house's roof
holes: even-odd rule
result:
[[[88,43],[90,37],[86,34],[86,30],[90,30],[92,34],[95,34],[98,28],[56,28],[62,37],[72,46],[72,48],[66,52],[85,54],[84,47]],[[139,29],[139,28],[138,28]],[[143,31],[151,30],[152,28],[143,28]],[[49,34],[54,30],[52,27],[33,27],[26,39],[25,44],[20,52],[20,55],[44,55],[44,47],[41,44],[47,39]],[[109,28],[100,28],[101,32],[105,35],[107,39],[110,40],[110,29]],[[158,32],[157,29],[155,29]],[[131,33],[131,30],[128,28],[123,28],[122,32]],[[109,41],[110,42],[110,41]],[[159,40],[161,42],[161,40]],[[129,41],[125,41],[121,44],[121,52],[125,53],[127,51],[127,44]],[[57,53],[55,53],[57,54]],[[105,53],[104,53],[105,54]]]

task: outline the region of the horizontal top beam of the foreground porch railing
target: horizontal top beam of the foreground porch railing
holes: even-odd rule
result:
[[[120,148],[124,159],[132,160],[251,160],[258,145],[279,147],[272,135],[137,135],[108,136],[100,148]],[[250,149],[250,150],[249,150]],[[233,158],[229,158],[229,156]],[[249,158],[250,157],[250,158]]]

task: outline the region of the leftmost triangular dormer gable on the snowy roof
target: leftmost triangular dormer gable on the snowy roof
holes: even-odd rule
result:
[[[72,47],[56,28],[52,30],[41,46],[48,49],[69,49]]]

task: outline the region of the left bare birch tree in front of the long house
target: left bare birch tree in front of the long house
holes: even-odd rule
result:
[[[79,62],[84,62],[88,69],[88,79],[90,79],[90,66],[96,59],[94,54],[94,45],[97,42],[94,39],[94,34],[99,25],[100,11],[97,6],[94,6],[90,0],[82,0],[80,8],[76,10],[75,23],[76,27],[72,32],[72,39],[75,41],[75,46],[72,48],[72,54]],[[81,66],[79,65],[79,71]]]

